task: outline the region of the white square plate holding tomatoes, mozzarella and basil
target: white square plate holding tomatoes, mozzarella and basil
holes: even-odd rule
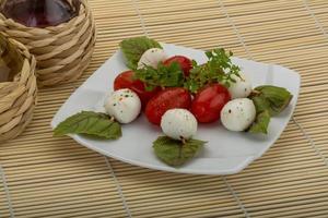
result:
[[[168,56],[183,55],[198,63],[207,61],[201,50],[163,44]],[[153,153],[152,142],[162,135],[160,128],[150,124],[142,114],[130,124],[122,125],[122,137],[117,141],[91,140],[81,135],[70,135],[78,143],[108,157],[145,168],[195,174],[232,174],[242,171],[251,161],[263,155],[278,140],[286,126],[297,101],[300,75],[286,68],[233,58],[243,72],[257,85],[277,85],[288,88],[293,94],[290,106],[271,119],[268,135],[253,135],[226,131],[220,123],[200,124],[195,138],[208,141],[203,150],[180,168],[168,167]],[[81,111],[94,110],[106,93],[113,90],[114,78],[127,66],[124,57],[117,51],[106,61],[70,98],[55,116],[55,128],[66,118]]]

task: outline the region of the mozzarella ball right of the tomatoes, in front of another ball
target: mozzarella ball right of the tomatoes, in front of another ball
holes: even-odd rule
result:
[[[221,122],[230,131],[246,130],[256,118],[253,100],[237,98],[229,101],[221,110]]]

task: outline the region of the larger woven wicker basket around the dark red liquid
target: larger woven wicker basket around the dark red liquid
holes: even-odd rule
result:
[[[79,14],[68,23],[45,28],[26,27],[0,13],[0,31],[35,56],[39,86],[79,78],[90,63],[96,37],[86,0],[81,0]]]

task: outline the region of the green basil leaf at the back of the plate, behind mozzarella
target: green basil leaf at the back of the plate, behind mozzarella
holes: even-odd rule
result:
[[[125,39],[119,46],[127,59],[127,66],[132,70],[137,69],[138,62],[144,51],[151,48],[162,48],[157,41],[145,36]]]

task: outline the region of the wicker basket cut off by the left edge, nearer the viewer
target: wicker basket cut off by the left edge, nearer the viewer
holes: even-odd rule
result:
[[[13,50],[19,61],[10,82],[0,83],[0,142],[21,134],[33,117],[36,105],[35,58],[21,43],[8,39],[0,34],[0,39]]]

